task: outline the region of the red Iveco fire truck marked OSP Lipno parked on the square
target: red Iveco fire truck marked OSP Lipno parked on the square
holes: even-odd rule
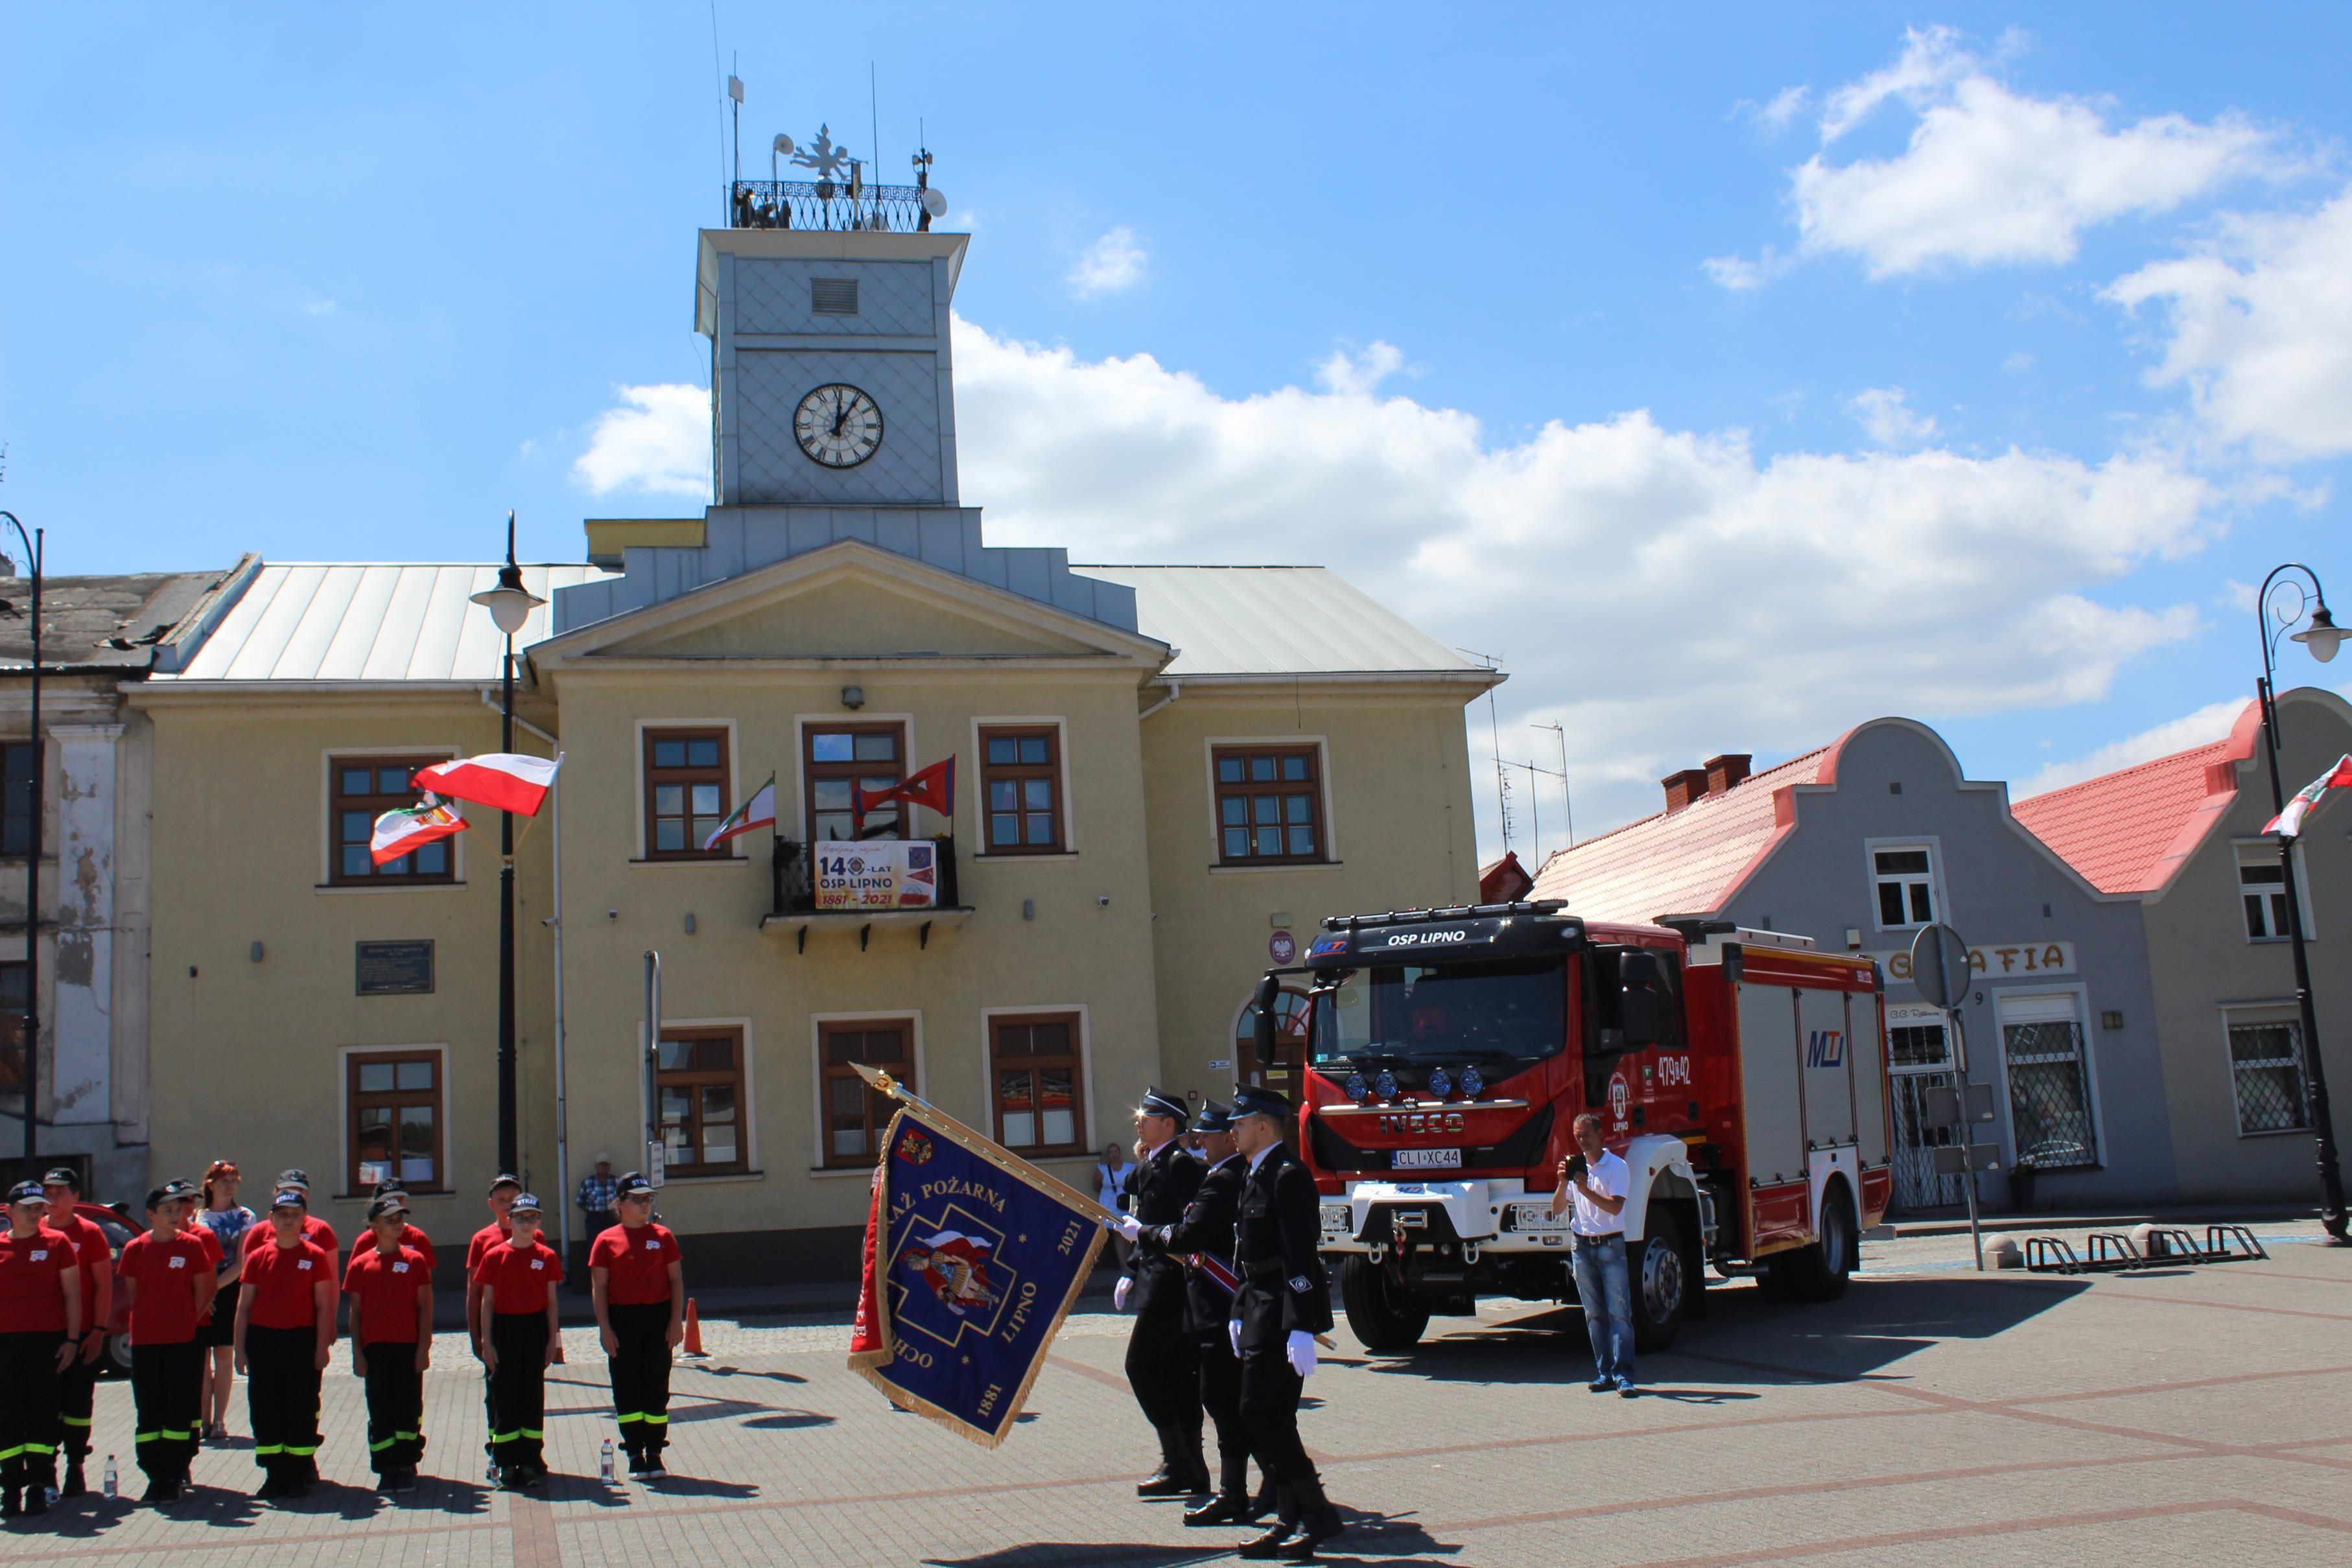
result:
[[[1844,1291],[1893,1187],[1882,976],[1809,938],[1557,900],[1324,922],[1308,978],[1298,1145],[1348,1326],[1404,1349],[1479,1295],[1571,1300],[1550,1213],[1581,1112],[1632,1173],[1639,1345],[1698,1309],[1705,1269],[1783,1298]]]

